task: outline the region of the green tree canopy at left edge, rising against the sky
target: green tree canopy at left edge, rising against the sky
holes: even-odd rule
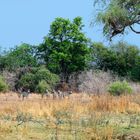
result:
[[[15,71],[21,67],[37,66],[35,48],[29,44],[21,44],[6,52],[0,59],[1,69]]]

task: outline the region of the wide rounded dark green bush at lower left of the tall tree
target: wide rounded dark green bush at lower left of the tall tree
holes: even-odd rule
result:
[[[39,67],[36,69],[34,68],[31,72],[22,75],[19,79],[18,87],[30,89],[33,92],[36,90],[37,92],[44,92],[44,90],[41,90],[42,85],[46,86],[46,88],[50,90],[54,88],[58,82],[59,76],[51,73],[45,67]]]

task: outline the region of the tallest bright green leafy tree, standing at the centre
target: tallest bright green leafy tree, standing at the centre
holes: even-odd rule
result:
[[[87,67],[89,40],[82,28],[81,17],[76,17],[72,22],[69,19],[56,18],[44,43],[38,48],[47,68],[61,74],[63,80],[67,81],[71,73]]]

